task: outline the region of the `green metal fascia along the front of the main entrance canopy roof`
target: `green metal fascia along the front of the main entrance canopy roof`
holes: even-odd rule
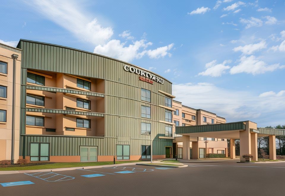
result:
[[[200,132],[214,132],[214,131],[230,131],[230,130],[245,130],[243,122],[224,123],[224,124],[208,124],[196,125],[186,127],[175,127],[176,134],[183,133],[200,133]]]

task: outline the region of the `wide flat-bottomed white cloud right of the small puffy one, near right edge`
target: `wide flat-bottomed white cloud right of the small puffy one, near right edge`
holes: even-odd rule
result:
[[[279,64],[267,65],[264,61],[257,59],[255,56],[242,56],[240,64],[230,69],[231,74],[248,73],[252,75],[263,74],[265,72],[273,72],[278,68],[283,68]]]

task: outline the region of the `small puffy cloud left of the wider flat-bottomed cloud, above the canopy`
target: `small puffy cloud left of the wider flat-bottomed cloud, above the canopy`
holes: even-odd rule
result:
[[[213,60],[209,63],[206,63],[205,67],[207,68],[204,72],[200,72],[198,75],[204,75],[204,76],[212,76],[212,77],[219,77],[227,69],[229,69],[229,66],[226,66],[226,64],[231,63],[232,61],[226,60],[221,64],[216,64],[217,60]]]

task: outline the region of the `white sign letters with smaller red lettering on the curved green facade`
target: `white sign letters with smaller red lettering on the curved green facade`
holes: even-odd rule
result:
[[[146,72],[146,71],[144,71],[144,70],[142,70],[140,68],[136,68],[136,67],[132,67],[132,66],[129,66],[129,65],[125,65],[124,66],[124,70],[126,72],[132,72],[132,73],[135,73],[137,75],[142,76],[140,78],[145,77],[145,78],[143,78],[143,79],[145,79],[143,81],[151,83],[152,82],[151,80],[153,80],[153,81],[156,81],[158,83],[164,84],[164,79],[163,78],[160,78],[157,75],[154,75],[153,73]],[[142,80],[142,79],[140,79],[140,80]]]

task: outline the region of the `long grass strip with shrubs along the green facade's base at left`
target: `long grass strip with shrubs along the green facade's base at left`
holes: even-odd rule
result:
[[[140,162],[139,160],[136,161],[116,161],[116,164],[120,163],[134,163]],[[66,167],[86,167],[86,166],[97,166],[97,165],[113,165],[113,161],[106,161],[106,162],[67,162],[67,163],[44,163],[40,162],[41,164],[31,165],[13,165],[9,167],[0,167],[0,171],[16,171],[16,170],[41,170],[41,169],[56,169],[56,168],[66,168]]]

